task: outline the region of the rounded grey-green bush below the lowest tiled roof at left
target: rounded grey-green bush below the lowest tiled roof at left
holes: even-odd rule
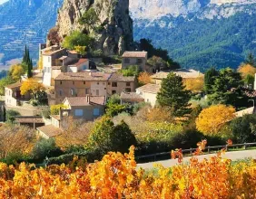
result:
[[[32,156],[36,159],[43,160],[46,156],[60,156],[63,154],[63,151],[56,147],[54,138],[40,138],[34,145],[32,150]]]

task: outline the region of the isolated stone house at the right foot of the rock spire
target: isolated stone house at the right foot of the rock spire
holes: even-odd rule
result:
[[[148,52],[123,52],[122,69],[127,69],[131,65],[137,65],[141,71],[146,71]]]

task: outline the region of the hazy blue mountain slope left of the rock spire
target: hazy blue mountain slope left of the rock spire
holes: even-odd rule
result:
[[[9,0],[0,5],[0,70],[21,58],[29,45],[34,62],[38,44],[56,22],[63,0]]]

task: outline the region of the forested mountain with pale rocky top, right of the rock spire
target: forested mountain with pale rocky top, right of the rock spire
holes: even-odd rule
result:
[[[256,0],[130,0],[134,39],[151,39],[183,67],[236,68],[256,55]]]

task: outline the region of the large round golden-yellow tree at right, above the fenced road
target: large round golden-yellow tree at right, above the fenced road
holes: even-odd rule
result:
[[[227,122],[235,118],[235,109],[225,105],[212,105],[203,109],[196,119],[196,128],[204,135],[217,135]]]

